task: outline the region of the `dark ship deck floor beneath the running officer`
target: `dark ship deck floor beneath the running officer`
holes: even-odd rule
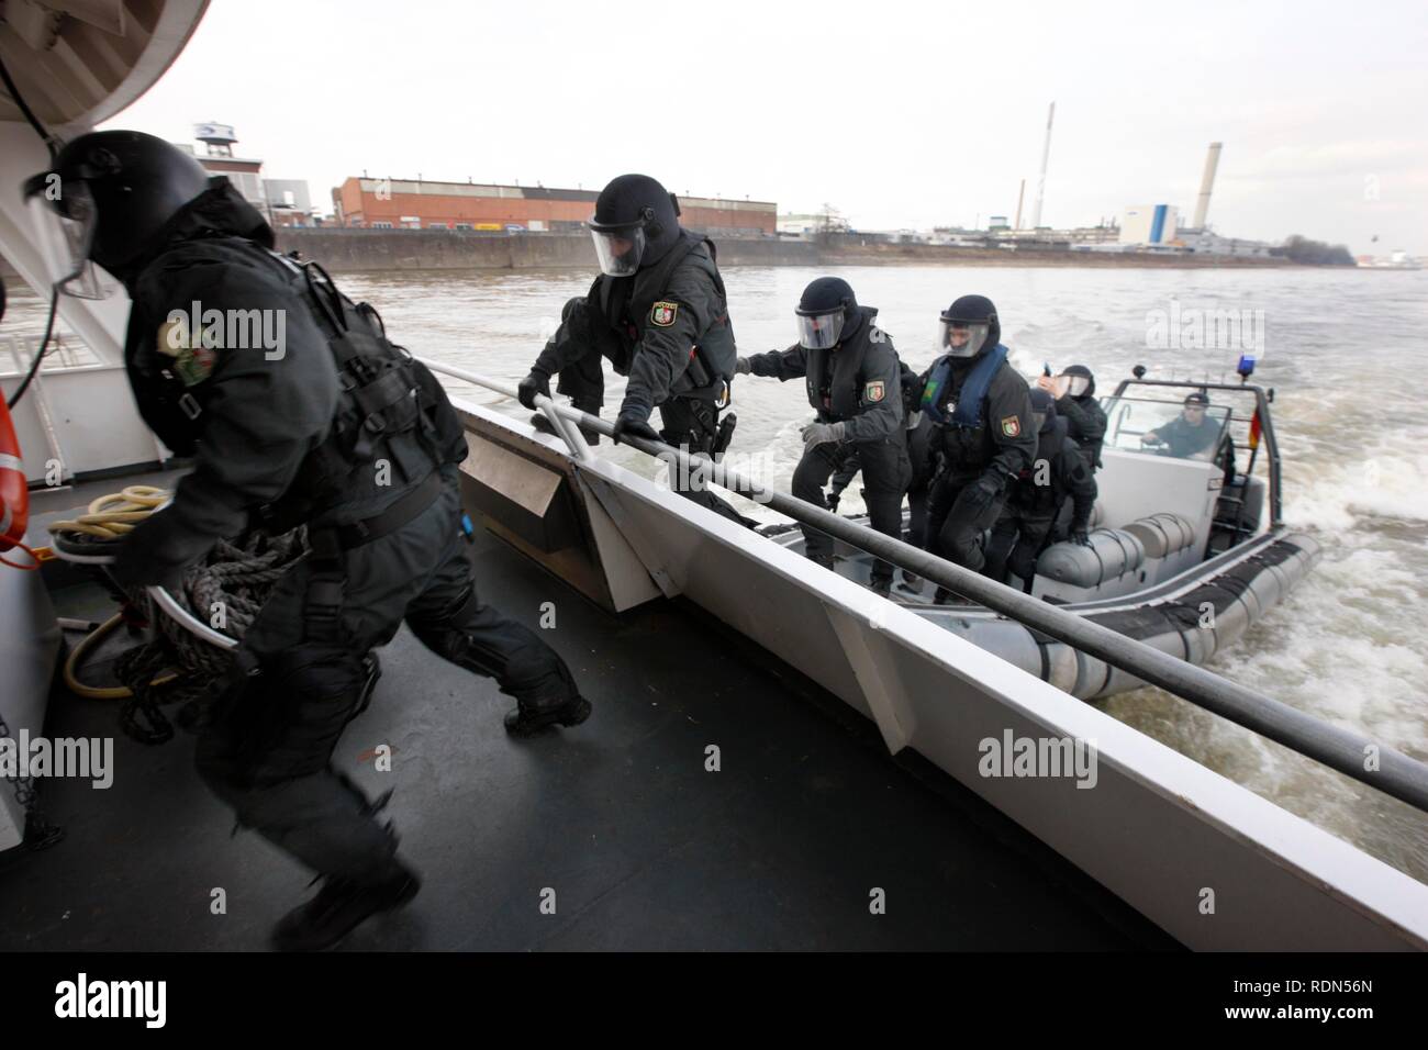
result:
[[[40,496],[36,517],[119,487]],[[403,629],[334,764],[371,794],[396,789],[384,816],[424,887],[343,949],[1178,947],[931,763],[890,757],[873,723],[693,604],[615,617],[487,533],[471,557],[486,600],[517,620],[536,627],[540,603],[557,603],[544,637],[594,714],[511,740],[494,683]],[[54,599],[60,616],[111,611],[84,581],[59,580]],[[101,663],[103,651],[90,676]],[[313,873],[233,834],[193,770],[191,736],[137,744],[117,731],[117,701],[63,686],[46,731],[114,737],[114,783],[43,783],[66,837],[0,854],[0,947],[260,950],[311,893]],[[374,769],[381,743],[390,773]],[[710,744],[718,771],[705,769]],[[220,887],[227,911],[213,914]],[[870,907],[875,889],[883,914]],[[541,910],[547,890],[554,914]]]

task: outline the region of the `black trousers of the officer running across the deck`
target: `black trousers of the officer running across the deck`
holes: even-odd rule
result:
[[[320,874],[377,883],[394,870],[396,836],[331,767],[331,756],[360,713],[366,654],[390,641],[403,620],[437,656],[496,679],[523,707],[577,696],[570,669],[545,641],[477,597],[456,467],[443,471],[447,483],[433,506],[346,553],[340,639],[310,637],[306,560],[278,581],[198,739],[198,773],[238,823]]]

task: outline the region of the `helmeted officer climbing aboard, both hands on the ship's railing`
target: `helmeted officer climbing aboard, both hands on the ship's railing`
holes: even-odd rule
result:
[[[518,386],[521,404],[534,409],[536,394],[550,397],[550,377],[558,373],[555,389],[574,407],[600,414],[607,357],[630,377],[615,441],[634,434],[695,453],[724,451],[731,431],[721,434],[720,410],[737,356],[728,297],[714,243],[684,230],[678,216],[674,194],[648,176],[620,176],[601,190],[590,220],[600,276],[588,294],[565,303],[560,329]],[[664,423],[658,433],[648,421],[653,409]],[[548,426],[543,416],[533,421]],[[707,490],[681,494],[750,524]]]

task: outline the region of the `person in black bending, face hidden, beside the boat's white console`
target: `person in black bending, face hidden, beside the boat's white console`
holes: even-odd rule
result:
[[[1081,449],[1071,440],[1067,423],[1057,411],[1051,393],[1031,391],[1031,417],[1037,426],[1037,459],[1007,491],[1001,517],[987,544],[985,573],[1002,581],[1007,570],[1021,577],[1025,591],[1037,573],[1037,557],[1052,539],[1061,507],[1070,499],[1071,539],[1088,544],[1091,509],[1095,506],[1095,480]]]

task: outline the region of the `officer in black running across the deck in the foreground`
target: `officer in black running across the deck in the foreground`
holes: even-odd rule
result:
[[[310,551],[244,634],[197,763],[240,824],[324,879],[278,924],[277,944],[326,947],[418,887],[374,816],[381,803],[331,766],[370,696],[373,647],[406,621],[517,699],[506,723],[517,736],[577,724],[590,704],[550,646],[477,597],[460,420],[371,307],[274,253],[273,230],[233,186],[160,139],[80,136],[29,190],[56,181],[53,207],[87,227],[73,243],[133,299],[124,360],[140,411],[194,460],[173,503],[123,541],[114,577],[173,587],[216,540],[307,526]],[[281,344],[233,340],[231,324],[193,330],[193,316],[231,311],[278,319]]]

